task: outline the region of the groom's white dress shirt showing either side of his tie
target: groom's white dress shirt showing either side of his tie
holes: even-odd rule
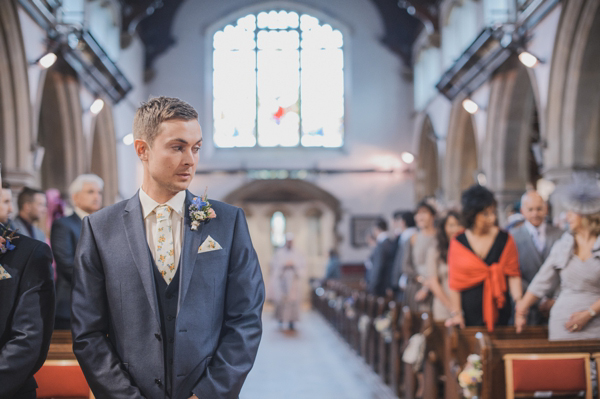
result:
[[[148,194],[140,188],[140,203],[142,204],[142,214],[144,216],[144,225],[146,226],[146,239],[148,247],[152,253],[152,258],[156,261],[156,213],[154,209],[162,204],[154,201]],[[173,252],[175,255],[175,264],[179,267],[179,257],[181,247],[183,246],[183,218],[185,207],[185,190],[178,192],[173,198],[168,200],[165,205],[171,207],[171,226],[173,232]]]

